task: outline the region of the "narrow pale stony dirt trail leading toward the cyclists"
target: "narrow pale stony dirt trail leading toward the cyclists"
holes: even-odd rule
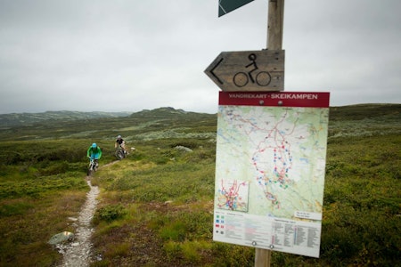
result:
[[[90,191],[86,194],[86,202],[78,215],[77,231],[75,233],[74,242],[59,247],[60,252],[64,255],[61,266],[89,266],[91,254],[91,234],[94,231],[91,228],[91,220],[94,217],[94,211],[97,205],[97,196],[99,188],[92,186],[90,177],[86,177],[86,182],[90,187]]]

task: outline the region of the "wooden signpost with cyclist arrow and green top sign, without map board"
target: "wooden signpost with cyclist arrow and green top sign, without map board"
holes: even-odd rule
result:
[[[219,16],[250,3],[250,0],[219,0]],[[235,6],[232,6],[232,5]],[[284,90],[284,51],[282,50],[284,0],[269,0],[267,49],[223,52],[205,73],[223,91],[266,92]],[[270,266],[271,250],[256,248],[255,266]]]

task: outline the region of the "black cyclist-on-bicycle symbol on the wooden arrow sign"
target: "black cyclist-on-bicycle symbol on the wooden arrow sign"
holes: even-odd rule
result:
[[[233,76],[233,83],[237,87],[243,87],[245,85],[248,85],[249,82],[252,84],[257,83],[259,86],[267,86],[270,84],[272,81],[272,77],[270,76],[270,73],[267,71],[260,71],[256,74],[255,77],[252,76],[252,72],[258,69],[258,65],[256,63],[257,56],[254,53],[250,53],[248,56],[248,59],[250,59],[250,64],[246,65],[245,68],[250,68],[250,71],[248,73],[245,72],[237,72]]]

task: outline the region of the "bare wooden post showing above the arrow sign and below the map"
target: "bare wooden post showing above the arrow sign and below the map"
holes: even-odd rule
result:
[[[267,49],[282,50],[284,0],[269,0],[267,17]],[[255,249],[255,267],[270,267],[272,251]]]

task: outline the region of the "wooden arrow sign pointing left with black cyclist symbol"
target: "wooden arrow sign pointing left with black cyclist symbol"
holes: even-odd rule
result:
[[[284,50],[222,52],[207,69],[223,91],[283,91]]]

